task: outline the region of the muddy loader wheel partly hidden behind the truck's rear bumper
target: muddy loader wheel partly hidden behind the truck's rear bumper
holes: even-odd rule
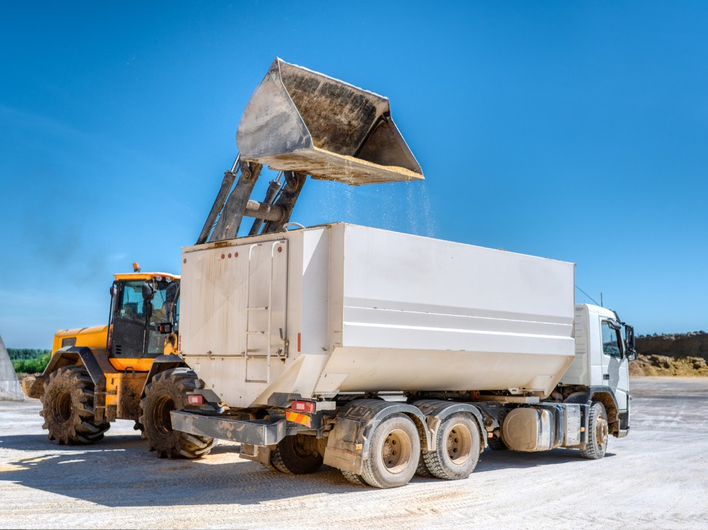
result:
[[[190,369],[173,368],[157,374],[145,387],[138,422],[148,448],[161,459],[198,459],[214,445],[213,438],[172,430],[170,413],[187,407],[187,392],[194,390],[196,382],[197,374]]]

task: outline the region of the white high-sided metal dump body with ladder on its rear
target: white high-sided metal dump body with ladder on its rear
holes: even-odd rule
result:
[[[573,268],[350,224],[183,250],[181,352],[232,408],[364,391],[546,396]]]

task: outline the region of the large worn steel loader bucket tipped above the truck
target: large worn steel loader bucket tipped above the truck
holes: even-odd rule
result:
[[[236,132],[241,159],[350,185],[423,180],[389,100],[276,58]]]

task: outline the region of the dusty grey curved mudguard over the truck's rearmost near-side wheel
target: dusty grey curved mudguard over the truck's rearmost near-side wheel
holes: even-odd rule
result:
[[[426,417],[411,403],[392,403],[378,399],[358,399],[342,408],[327,439],[324,463],[343,471],[360,474],[362,461],[369,456],[371,433],[392,414],[409,417],[421,434],[421,447],[430,446]]]

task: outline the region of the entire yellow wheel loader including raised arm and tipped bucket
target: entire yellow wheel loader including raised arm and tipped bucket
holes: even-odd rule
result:
[[[246,238],[297,225],[290,217],[308,175],[348,185],[423,179],[387,98],[279,58],[251,96],[236,144],[239,154],[224,173],[197,244],[227,244],[239,236],[244,217],[253,218]],[[279,173],[258,202],[251,193],[264,165]],[[224,264],[237,257],[227,250],[221,255]],[[57,333],[50,364],[25,387],[42,400],[50,439],[96,442],[110,421],[123,418],[135,420],[160,457],[210,451],[212,437],[171,424],[173,410],[224,412],[218,399],[199,401],[198,391],[208,391],[179,355],[179,282],[164,273],[116,275],[108,326]],[[254,316],[268,311],[252,309]],[[287,356],[287,344],[280,351]]]

